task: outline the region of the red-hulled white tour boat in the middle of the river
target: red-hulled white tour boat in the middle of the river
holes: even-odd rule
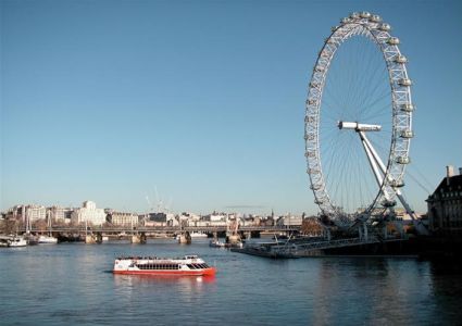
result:
[[[114,262],[114,274],[135,275],[215,275],[215,267],[209,266],[197,255],[185,255],[178,259],[157,256],[117,258]]]

